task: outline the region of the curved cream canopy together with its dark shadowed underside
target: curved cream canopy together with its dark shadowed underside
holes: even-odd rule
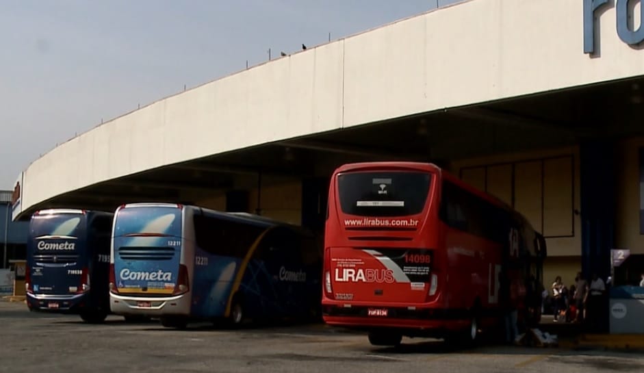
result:
[[[206,83],[34,161],[14,219],[184,201],[259,171],[327,175],[354,160],[443,163],[642,133],[644,53],[617,37],[614,8],[597,15],[601,56],[583,53],[581,1],[472,0]]]

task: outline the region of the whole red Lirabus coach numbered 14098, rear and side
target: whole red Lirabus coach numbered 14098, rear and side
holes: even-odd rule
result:
[[[346,164],[329,187],[323,318],[368,331],[376,346],[403,336],[475,342],[508,309],[532,327],[545,255],[526,218],[438,166]]]

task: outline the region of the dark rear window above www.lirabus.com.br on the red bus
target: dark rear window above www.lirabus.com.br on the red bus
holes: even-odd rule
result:
[[[407,216],[425,207],[426,172],[352,172],[337,177],[342,212],[358,216]]]

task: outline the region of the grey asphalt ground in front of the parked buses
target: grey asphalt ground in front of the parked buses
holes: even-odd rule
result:
[[[110,316],[33,313],[0,301],[0,372],[644,372],[644,355],[586,348],[484,345],[453,350],[432,339],[371,346],[363,334],[324,325],[238,331]]]

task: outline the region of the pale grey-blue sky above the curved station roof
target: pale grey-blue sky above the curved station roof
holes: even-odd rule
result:
[[[268,60],[461,0],[0,0],[0,190],[57,144]]]

